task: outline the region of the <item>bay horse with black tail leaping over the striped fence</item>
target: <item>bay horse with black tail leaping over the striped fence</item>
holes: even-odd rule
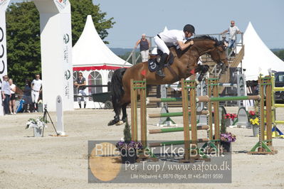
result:
[[[205,73],[209,70],[208,65],[199,65],[199,57],[206,53],[221,66],[223,70],[228,68],[226,50],[223,42],[218,41],[211,36],[198,36],[193,38],[194,45],[184,50],[177,50],[175,47],[169,48],[174,55],[174,63],[170,68],[164,68],[165,77],[159,77],[155,72],[150,72],[148,62],[138,63],[130,68],[120,68],[115,70],[111,80],[112,106],[115,111],[115,119],[112,119],[108,125],[118,124],[120,122],[120,112],[122,109],[122,121],[127,119],[126,107],[130,104],[130,80],[146,79],[147,85],[172,84],[187,78],[196,72],[200,73],[199,81],[202,80]],[[189,41],[186,41],[188,43]]]

